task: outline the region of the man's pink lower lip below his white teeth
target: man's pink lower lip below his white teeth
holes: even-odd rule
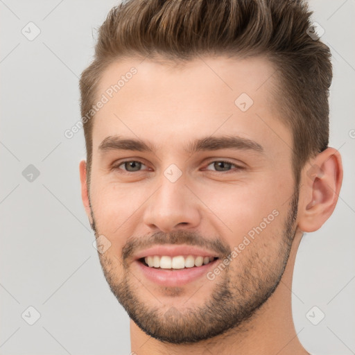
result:
[[[143,272],[144,276],[155,284],[163,286],[182,286],[193,282],[200,277],[206,277],[207,272],[210,268],[213,268],[217,263],[218,259],[207,263],[202,266],[193,266],[193,268],[183,268],[183,269],[160,269],[160,268],[150,268],[144,265],[141,261],[136,260],[135,263],[138,264],[139,269]]]

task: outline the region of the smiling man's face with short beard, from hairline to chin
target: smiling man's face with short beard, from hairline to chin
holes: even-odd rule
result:
[[[131,67],[137,73],[125,76]],[[103,73],[91,217],[110,246],[99,253],[107,282],[150,336],[186,343],[221,334],[250,318],[282,277],[298,195],[274,71],[261,58],[219,57],[175,69],[130,60]],[[107,139],[118,136],[152,151]]]

